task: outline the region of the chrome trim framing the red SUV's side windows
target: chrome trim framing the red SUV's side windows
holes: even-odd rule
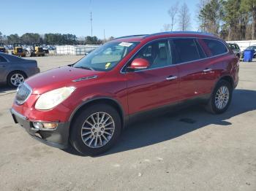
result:
[[[158,40],[164,40],[164,39],[167,39],[167,40],[168,40],[169,46],[170,46],[170,42],[169,42],[170,39],[209,39],[209,40],[216,40],[216,41],[221,42],[221,43],[226,47],[227,52],[222,53],[222,54],[220,54],[220,55],[214,55],[214,56],[210,56],[210,57],[206,57],[206,58],[200,58],[200,59],[197,59],[197,60],[194,60],[194,61],[187,61],[187,62],[183,62],[183,63],[172,63],[172,64],[170,64],[170,65],[168,65],[168,66],[162,66],[162,67],[158,67],[158,68],[154,68],[154,69],[163,69],[163,68],[167,68],[167,67],[179,66],[179,65],[181,65],[181,64],[194,63],[194,62],[196,62],[196,61],[204,61],[204,60],[206,60],[206,59],[216,58],[216,57],[218,57],[218,56],[227,55],[227,54],[229,53],[229,49],[227,48],[227,45],[226,45],[225,43],[223,43],[223,42],[222,42],[221,40],[219,40],[219,39],[211,39],[211,38],[206,38],[206,37],[191,37],[191,36],[189,36],[189,37],[164,37],[164,38],[159,38],[159,39],[151,40],[150,42],[147,42],[146,44],[144,44],[142,47],[140,47],[139,50],[137,50],[137,51],[135,52],[134,55],[132,55],[131,58],[129,58],[129,60],[127,61],[127,63],[129,63],[129,61],[131,61],[131,60],[135,57],[135,55],[136,55],[141,49],[143,49],[143,47],[145,47],[147,44],[149,44],[149,43],[151,43],[151,42],[158,41]],[[198,44],[199,44],[199,43],[198,43]],[[200,45],[200,44],[199,44],[199,45]],[[171,50],[171,49],[170,49],[170,50]],[[202,50],[203,50],[203,48],[202,48]],[[204,51],[203,51],[203,52],[204,52]],[[206,54],[206,52],[204,52],[204,53]],[[206,55],[206,56],[207,56],[207,55]],[[121,68],[120,74],[126,74],[126,73],[127,73],[126,71],[123,71],[123,69],[127,66],[127,63],[125,63],[124,66]],[[154,69],[141,69],[141,70],[132,71],[132,72],[148,71],[148,70],[154,70]]]

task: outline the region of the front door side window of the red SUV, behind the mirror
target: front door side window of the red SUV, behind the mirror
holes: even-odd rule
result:
[[[146,59],[150,64],[149,69],[169,66],[171,64],[171,54],[167,40],[147,44],[135,55],[135,58]]]

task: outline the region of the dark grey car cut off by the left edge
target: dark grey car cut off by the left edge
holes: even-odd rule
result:
[[[39,73],[37,61],[0,52],[0,83],[18,87],[27,77]]]

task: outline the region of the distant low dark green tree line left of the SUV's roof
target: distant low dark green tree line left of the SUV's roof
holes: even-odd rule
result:
[[[26,33],[22,36],[18,34],[4,35],[0,32],[0,42],[4,44],[21,43],[27,45],[39,44],[52,44],[52,45],[77,45],[77,44],[103,44],[105,41],[113,39],[111,36],[109,39],[102,40],[97,36],[86,36],[78,38],[74,34],[36,34]]]

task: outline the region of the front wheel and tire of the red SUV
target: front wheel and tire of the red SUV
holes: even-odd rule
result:
[[[104,113],[105,115],[103,115]],[[93,122],[91,116],[93,116],[96,123]],[[97,125],[97,117],[100,119],[98,127],[95,126],[95,124]],[[102,117],[103,122],[107,120],[108,117],[110,117],[110,119],[105,122],[105,125],[108,125],[108,123],[111,121],[113,121],[113,123],[108,126],[103,125],[103,123],[101,123]],[[89,123],[86,121],[91,123],[91,125],[89,125]],[[105,130],[101,131],[102,127],[104,127]],[[108,134],[102,132],[112,134],[112,136],[110,137]],[[82,155],[94,156],[99,155],[102,152],[106,152],[108,149],[110,149],[113,144],[116,143],[120,134],[121,117],[116,109],[107,104],[96,104],[89,106],[80,112],[77,117],[75,117],[75,120],[72,122],[70,127],[69,142],[72,147],[74,147]],[[105,138],[103,136],[105,136]],[[101,141],[99,139],[101,139]],[[109,139],[109,141],[106,141],[106,139]],[[95,142],[97,146],[95,146]]]

